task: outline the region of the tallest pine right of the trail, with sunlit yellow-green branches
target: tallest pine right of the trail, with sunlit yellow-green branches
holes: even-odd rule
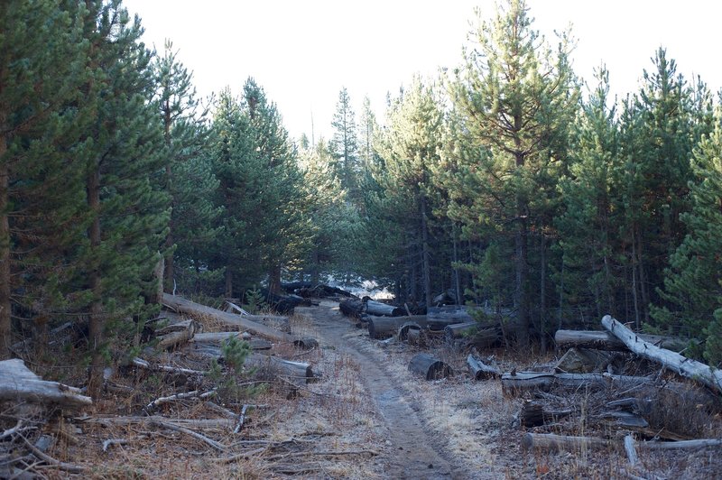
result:
[[[483,188],[486,198],[470,200],[479,202],[484,212],[477,218],[494,218],[507,232],[512,228],[514,307],[524,326],[519,341],[526,344],[532,327],[530,235],[539,233],[545,252],[550,196],[555,195],[565,159],[578,93],[567,37],[562,36],[558,51],[552,53],[532,30],[523,0],[510,0],[493,23],[481,23],[477,41],[479,50],[466,52],[466,65],[450,86],[460,115],[454,131],[465,138],[449,152],[467,164],[459,182],[482,181],[488,186]],[[486,201],[490,203],[480,204]],[[538,268],[542,285],[546,263],[542,255]]]

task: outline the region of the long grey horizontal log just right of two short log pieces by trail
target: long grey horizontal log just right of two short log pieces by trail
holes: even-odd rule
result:
[[[551,385],[610,388],[629,388],[643,383],[653,383],[649,377],[612,374],[554,374],[552,372],[512,372],[502,375],[504,392],[521,392],[533,388],[550,388]]]

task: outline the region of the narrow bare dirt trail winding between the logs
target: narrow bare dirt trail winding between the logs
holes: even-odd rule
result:
[[[409,394],[399,386],[383,363],[356,344],[348,334],[351,326],[347,318],[338,312],[338,303],[322,302],[319,307],[297,308],[296,313],[307,318],[319,332],[321,347],[332,347],[352,358],[359,365],[359,372],[366,390],[375,400],[379,418],[388,430],[384,451],[384,475],[389,478],[457,479],[466,478],[449,462],[434,441],[431,429],[424,425],[418,415],[418,406]]]

